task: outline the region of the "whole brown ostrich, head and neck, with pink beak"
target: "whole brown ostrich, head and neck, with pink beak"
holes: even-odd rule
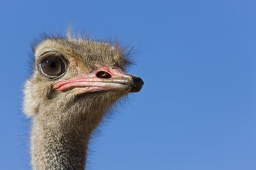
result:
[[[43,36],[33,51],[34,72],[23,90],[23,111],[32,117],[32,168],[85,169],[92,131],[143,81],[125,73],[131,61],[118,43]]]

